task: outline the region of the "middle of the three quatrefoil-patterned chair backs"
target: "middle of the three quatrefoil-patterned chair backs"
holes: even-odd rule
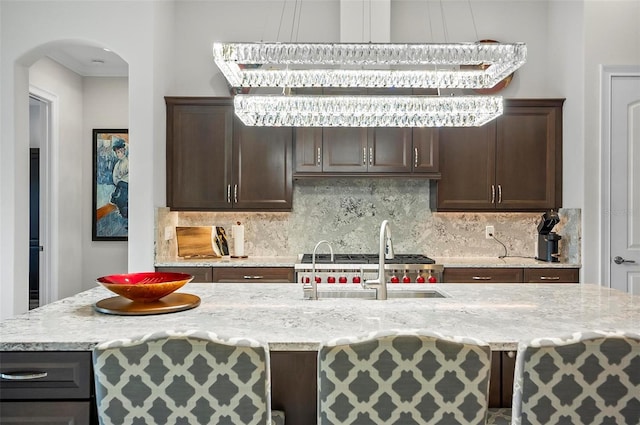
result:
[[[384,331],[318,352],[318,423],[484,424],[491,350],[472,338]]]

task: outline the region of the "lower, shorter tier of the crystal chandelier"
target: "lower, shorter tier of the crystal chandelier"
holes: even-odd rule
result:
[[[236,95],[245,125],[286,127],[469,127],[502,114],[499,96]]]

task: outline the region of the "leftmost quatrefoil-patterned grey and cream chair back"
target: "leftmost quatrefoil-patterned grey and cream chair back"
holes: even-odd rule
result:
[[[168,331],[93,351],[103,425],[269,424],[269,351],[246,338]]]

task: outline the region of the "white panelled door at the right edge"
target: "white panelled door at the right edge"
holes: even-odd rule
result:
[[[610,287],[640,294],[640,69],[610,81]]]

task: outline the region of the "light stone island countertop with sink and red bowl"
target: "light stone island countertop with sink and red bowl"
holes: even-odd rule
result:
[[[592,284],[393,285],[437,289],[441,299],[304,300],[299,284],[189,283],[200,306],[152,316],[96,312],[113,296],[96,287],[0,322],[0,350],[87,351],[101,341],[167,329],[252,337],[273,351],[316,350],[320,342],[381,329],[425,328],[469,335],[493,350],[586,330],[640,332],[640,296]],[[362,290],[353,285],[349,290]]]

